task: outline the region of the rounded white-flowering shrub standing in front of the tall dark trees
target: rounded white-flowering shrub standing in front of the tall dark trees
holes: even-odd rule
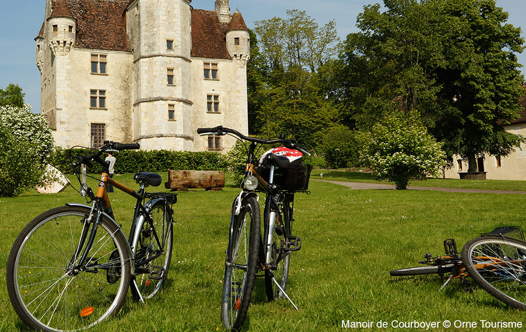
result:
[[[361,162],[375,179],[388,179],[397,189],[406,189],[412,178],[439,176],[444,166],[441,144],[413,120],[392,116],[362,137]]]

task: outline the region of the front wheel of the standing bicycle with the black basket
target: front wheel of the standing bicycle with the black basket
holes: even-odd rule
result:
[[[227,259],[231,255],[232,261],[225,262],[221,320],[227,330],[237,331],[245,321],[256,280],[261,229],[259,205],[255,197],[242,200],[238,216],[234,209],[235,207],[232,208],[232,220],[242,222],[238,236],[230,239],[234,243],[229,244],[232,253],[227,253]]]

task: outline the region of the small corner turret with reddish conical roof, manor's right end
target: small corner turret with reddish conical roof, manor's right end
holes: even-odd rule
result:
[[[250,58],[250,34],[239,9],[236,8],[226,33],[228,53],[239,67],[244,67]]]

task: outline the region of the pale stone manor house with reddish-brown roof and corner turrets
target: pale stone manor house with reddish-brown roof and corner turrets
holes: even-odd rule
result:
[[[36,64],[57,145],[223,151],[233,138],[196,129],[248,134],[249,33],[228,0],[46,1]]]

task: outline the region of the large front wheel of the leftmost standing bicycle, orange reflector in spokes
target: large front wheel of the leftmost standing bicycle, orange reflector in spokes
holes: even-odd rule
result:
[[[16,238],[7,260],[7,292],[27,326],[76,331],[122,307],[129,287],[129,247],[112,220],[102,216],[86,260],[70,263],[89,213],[88,207],[48,210]]]

